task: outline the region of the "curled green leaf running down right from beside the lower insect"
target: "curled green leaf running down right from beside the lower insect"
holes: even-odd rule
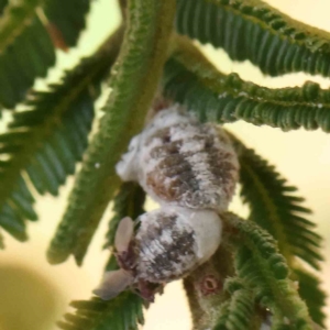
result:
[[[288,266],[274,239],[252,221],[231,213],[226,220],[231,229],[226,239],[237,248],[237,276],[255,292],[263,308],[270,308],[274,329],[285,327],[288,320],[290,329],[311,330],[307,307],[288,279]]]

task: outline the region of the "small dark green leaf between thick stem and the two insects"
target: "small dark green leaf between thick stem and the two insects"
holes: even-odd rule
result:
[[[135,220],[144,213],[145,193],[136,183],[124,183],[113,198],[113,217],[109,222],[105,248],[113,246],[117,227],[121,219],[130,217]]]

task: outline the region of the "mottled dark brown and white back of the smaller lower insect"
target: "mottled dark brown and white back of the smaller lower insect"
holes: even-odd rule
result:
[[[193,229],[174,212],[158,211],[155,218],[142,219],[136,246],[140,251],[139,277],[148,282],[179,278],[197,257]]]

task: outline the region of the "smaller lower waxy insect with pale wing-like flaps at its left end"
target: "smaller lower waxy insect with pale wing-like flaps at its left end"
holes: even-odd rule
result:
[[[211,210],[163,207],[138,218],[121,220],[116,233],[120,270],[105,274],[94,293],[102,299],[128,286],[153,301],[166,283],[182,278],[206,262],[221,241],[222,222]]]

